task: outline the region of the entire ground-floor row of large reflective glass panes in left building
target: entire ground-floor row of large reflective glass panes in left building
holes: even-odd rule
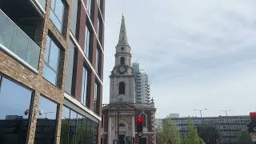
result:
[[[34,91],[0,74],[0,143],[26,144]],[[98,119],[79,107],[62,110],[61,144],[96,144]],[[58,103],[39,96],[34,144],[54,144]]]

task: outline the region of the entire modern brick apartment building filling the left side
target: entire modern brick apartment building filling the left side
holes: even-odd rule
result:
[[[0,1],[0,143],[101,142],[105,0]]]

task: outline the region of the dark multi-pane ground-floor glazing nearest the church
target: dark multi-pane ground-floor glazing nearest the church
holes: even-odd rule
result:
[[[62,113],[61,144],[95,144],[98,140],[98,123],[64,106]],[[69,139],[69,142],[68,142]]]

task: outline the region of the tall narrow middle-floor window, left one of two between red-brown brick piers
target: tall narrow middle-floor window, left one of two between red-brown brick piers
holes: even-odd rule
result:
[[[89,107],[90,106],[90,94],[89,94],[89,86],[90,86],[90,72],[87,70],[87,66],[83,67],[82,70],[82,97],[81,102],[83,105]]]

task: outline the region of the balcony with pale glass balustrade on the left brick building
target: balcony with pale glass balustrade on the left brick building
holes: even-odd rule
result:
[[[0,49],[22,62],[30,70],[38,72],[40,47],[31,39],[34,37],[36,26],[33,26],[33,22],[26,20],[29,17],[15,12],[15,14],[10,13],[13,7],[5,7],[5,10],[10,17],[0,9]],[[30,11],[30,14],[33,13]],[[33,21],[31,17],[30,21]],[[26,33],[16,25],[16,22],[22,26],[23,30],[26,30]],[[34,20],[34,22],[39,22],[39,20]]]

